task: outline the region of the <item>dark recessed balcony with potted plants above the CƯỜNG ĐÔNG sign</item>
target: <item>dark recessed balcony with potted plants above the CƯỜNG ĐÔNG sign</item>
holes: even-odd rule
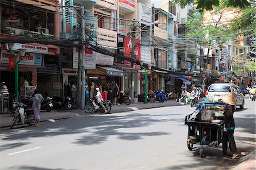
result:
[[[30,2],[30,1],[28,1]],[[54,13],[47,10],[26,11],[24,5],[15,7],[2,5],[1,34],[5,36],[22,36],[27,38],[52,39],[55,34]]]

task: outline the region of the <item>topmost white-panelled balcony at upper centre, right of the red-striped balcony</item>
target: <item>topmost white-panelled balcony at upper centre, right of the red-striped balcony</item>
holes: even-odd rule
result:
[[[143,5],[142,3],[137,3],[137,16],[139,16],[139,20],[141,22],[151,23],[152,17],[151,17],[151,7],[148,7],[146,5]]]

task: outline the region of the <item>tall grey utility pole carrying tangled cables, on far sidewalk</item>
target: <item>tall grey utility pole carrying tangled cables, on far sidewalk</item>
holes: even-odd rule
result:
[[[84,109],[85,106],[85,16],[84,16],[84,7],[82,7],[82,59],[81,59],[81,76],[82,76],[82,89],[81,89],[81,109]]]

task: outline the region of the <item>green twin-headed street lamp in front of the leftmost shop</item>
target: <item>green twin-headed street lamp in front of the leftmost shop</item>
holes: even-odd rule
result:
[[[25,48],[19,48],[19,56],[20,59],[17,61],[17,55],[13,52],[13,43],[8,43],[9,51],[14,55],[15,59],[15,68],[14,68],[14,74],[15,74],[15,101],[19,100],[19,62],[23,59],[25,56],[26,49]]]

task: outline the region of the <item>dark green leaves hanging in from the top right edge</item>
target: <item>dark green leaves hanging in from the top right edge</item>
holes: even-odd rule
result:
[[[175,0],[175,3],[179,3],[181,7],[185,7],[190,3],[195,3],[198,10],[213,10],[214,7],[220,5],[222,0]],[[241,9],[250,6],[250,3],[246,0],[225,0],[226,7],[240,7]]]

